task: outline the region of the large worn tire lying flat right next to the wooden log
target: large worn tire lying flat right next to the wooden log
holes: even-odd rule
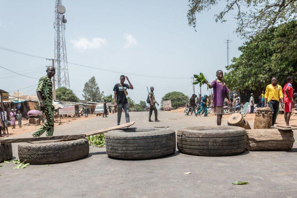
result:
[[[243,153],[246,130],[238,126],[188,127],[177,131],[181,153],[201,156],[225,156]]]

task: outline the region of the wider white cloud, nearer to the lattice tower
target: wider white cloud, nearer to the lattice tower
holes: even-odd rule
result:
[[[107,44],[107,40],[104,38],[93,38],[92,41],[85,37],[81,37],[77,40],[70,40],[73,44],[73,47],[79,51],[87,50],[87,49],[96,49],[100,48],[103,45]]]

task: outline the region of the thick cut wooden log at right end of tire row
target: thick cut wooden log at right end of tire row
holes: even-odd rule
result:
[[[295,142],[292,130],[250,129],[246,134],[247,150],[292,150]]]

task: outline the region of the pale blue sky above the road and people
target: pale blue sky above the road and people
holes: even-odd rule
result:
[[[68,62],[114,71],[146,75],[188,77],[164,79],[128,75],[135,101],[146,100],[146,86],[155,87],[157,101],[170,91],[193,93],[190,77],[203,72],[209,80],[240,55],[243,41],[233,31],[236,20],[216,23],[213,15],[223,9],[217,5],[197,15],[197,32],[187,25],[187,0],[171,1],[70,1],[62,0],[67,19],[65,37]],[[42,57],[54,57],[54,0],[2,1],[0,7],[0,46]],[[0,50],[0,66],[34,78],[45,74],[50,61]],[[43,68],[44,67],[44,68]],[[30,69],[28,71],[23,71]],[[120,73],[68,65],[70,88],[81,99],[84,83],[92,76],[105,95],[112,94]],[[38,80],[18,76],[0,68],[1,88],[18,90]],[[22,89],[35,94],[35,87]],[[199,86],[195,86],[195,92]],[[202,87],[202,94],[206,87]]]

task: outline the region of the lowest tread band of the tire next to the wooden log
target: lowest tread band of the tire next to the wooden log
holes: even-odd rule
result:
[[[201,156],[228,156],[243,153],[246,147],[230,150],[191,150],[179,148],[181,153]]]

